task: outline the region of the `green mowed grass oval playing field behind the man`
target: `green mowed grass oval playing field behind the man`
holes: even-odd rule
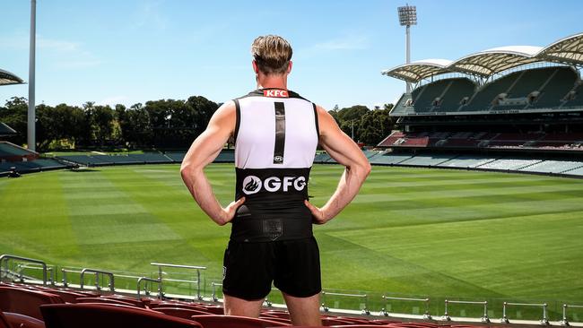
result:
[[[232,165],[206,172],[222,203],[230,202]],[[326,201],[341,172],[313,168],[313,203]],[[355,201],[315,227],[323,286],[582,302],[582,199],[578,179],[374,167]],[[204,265],[210,281],[220,280],[229,232],[196,207],[178,165],[0,179],[0,254],[124,272],[152,272],[150,262]]]

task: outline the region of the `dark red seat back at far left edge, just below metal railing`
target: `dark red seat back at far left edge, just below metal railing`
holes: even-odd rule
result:
[[[39,306],[43,304],[65,303],[55,294],[44,291],[0,287],[0,311],[28,315],[42,320]]]

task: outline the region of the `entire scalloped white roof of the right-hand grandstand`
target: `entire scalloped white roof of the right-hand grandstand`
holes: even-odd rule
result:
[[[453,62],[447,59],[425,59],[399,65],[381,73],[406,82],[419,82],[442,73],[467,73],[490,77],[510,68],[536,62],[583,65],[583,33],[559,39],[547,47],[494,47]]]

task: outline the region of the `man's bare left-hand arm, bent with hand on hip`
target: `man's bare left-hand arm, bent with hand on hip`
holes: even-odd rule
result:
[[[230,203],[222,208],[213,194],[213,188],[204,175],[204,167],[219,155],[222,146],[227,142],[235,129],[235,104],[230,101],[217,109],[204,133],[192,143],[187,155],[182,161],[180,175],[190,194],[195,198],[201,209],[218,225],[231,221],[235,211],[245,198]]]

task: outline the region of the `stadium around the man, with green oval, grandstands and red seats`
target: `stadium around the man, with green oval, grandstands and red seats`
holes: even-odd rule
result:
[[[362,149],[361,194],[315,228],[323,324],[583,326],[582,67],[579,33],[382,71],[413,87]],[[222,315],[229,231],[180,180],[186,150],[40,153],[22,133],[0,122],[0,327],[291,324],[277,289],[257,320]],[[205,170],[221,203],[234,161]],[[343,169],[318,151],[311,202]]]

